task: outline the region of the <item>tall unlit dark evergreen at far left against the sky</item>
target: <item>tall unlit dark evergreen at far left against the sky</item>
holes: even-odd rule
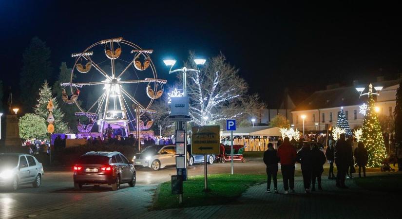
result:
[[[32,38],[22,55],[22,70],[19,74],[20,100],[25,112],[32,111],[35,105],[38,93],[33,91],[36,91],[42,81],[51,75],[49,59],[50,49],[46,47],[46,43],[38,37]]]

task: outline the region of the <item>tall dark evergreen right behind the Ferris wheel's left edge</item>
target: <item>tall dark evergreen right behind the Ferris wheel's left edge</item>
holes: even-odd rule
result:
[[[62,87],[60,83],[62,82],[69,82],[71,77],[71,69],[67,68],[67,65],[65,62],[62,62],[60,65],[60,73],[58,74],[58,80],[55,82],[53,85],[53,93],[56,95],[57,100],[61,100],[61,91]],[[74,78],[76,76],[74,75]],[[73,79],[74,79],[73,78]],[[70,87],[65,88],[67,93],[70,93]],[[81,105],[81,101],[77,100],[78,104]],[[76,104],[66,104],[64,102],[60,103],[60,109],[61,111],[64,112],[64,121],[67,122],[68,128],[73,130],[74,132],[77,131],[77,126],[76,126],[76,121],[77,117],[75,116],[75,112],[78,111],[77,105]]]

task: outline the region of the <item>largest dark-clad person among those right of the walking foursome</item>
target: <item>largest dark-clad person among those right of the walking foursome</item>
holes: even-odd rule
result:
[[[336,174],[336,186],[340,188],[347,188],[345,185],[346,173],[352,160],[350,151],[352,147],[346,143],[345,134],[339,136],[335,145],[335,164],[338,169]]]

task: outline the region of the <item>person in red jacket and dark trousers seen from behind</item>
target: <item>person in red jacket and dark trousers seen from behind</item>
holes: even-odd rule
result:
[[[289,138],[285,137],[284,142],[279,146],[277,156],[281,162],[281,172],[284,181],[285,194],[294,192],[294,163],[296,162],[296,148],[290,144]]]

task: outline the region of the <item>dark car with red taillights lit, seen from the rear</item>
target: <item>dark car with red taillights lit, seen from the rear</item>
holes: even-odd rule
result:
[[[108,184],[113,190],[120,184],[135,185],[133,162],[120,152],[91,151],[82,155],[74,165],[74,187],[79,190],[84,184]]]

